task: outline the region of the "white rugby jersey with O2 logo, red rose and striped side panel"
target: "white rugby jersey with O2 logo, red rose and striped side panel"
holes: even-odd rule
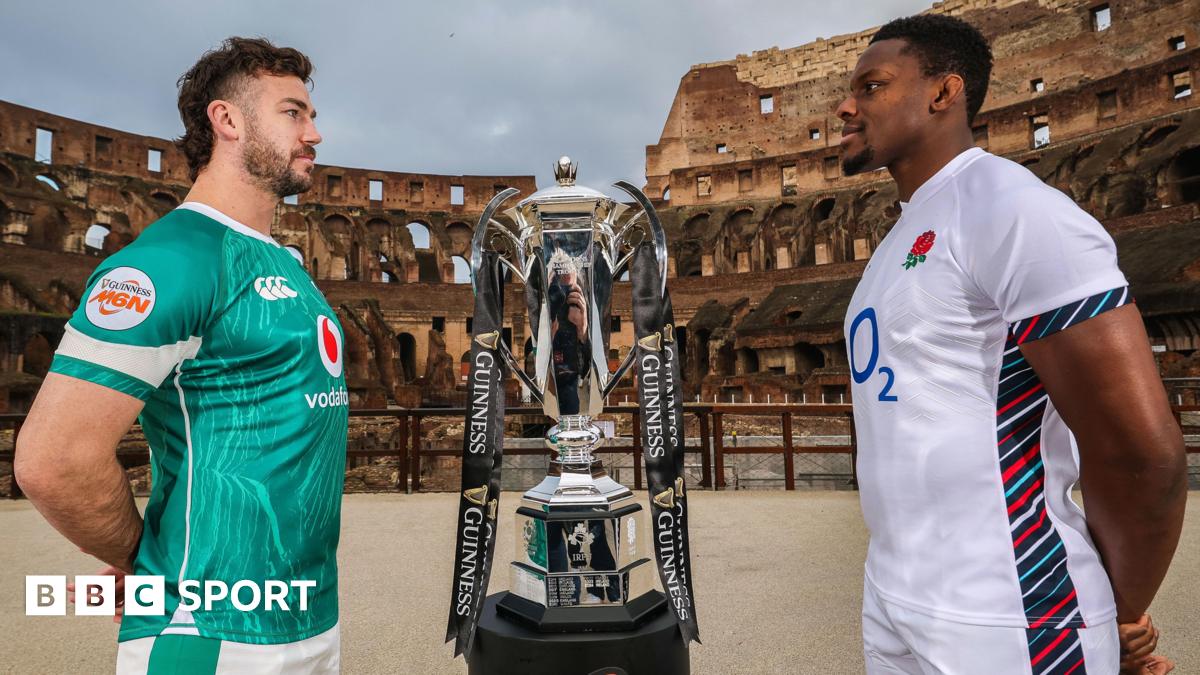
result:
[[[1132,301],[1111,237],[978,148],[901,207],[845,323],[868,583],[967,623],[1112,619],[1074,437],[1019,347]]]

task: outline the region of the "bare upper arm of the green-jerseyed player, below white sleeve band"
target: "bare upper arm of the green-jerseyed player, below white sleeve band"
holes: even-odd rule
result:
[[[110,455],[144,402],[85,380],[50,372],[20,432],[23,461],[74,461]],[[85,456],[80,456],[85,455]]]

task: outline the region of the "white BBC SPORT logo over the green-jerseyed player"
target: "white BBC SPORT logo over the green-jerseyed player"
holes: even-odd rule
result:
[[[82,574],[76,579],[76,616],[113,616],[116,614],[116,578]],[[224,581],[185,579],[179,585],[179,607],[184,611],[211,611],[222,604],[238,611],[308,611],[308,591],[317,583],[308,579],[280,581],[241,580],[229,586]],[[130,616],[167,614],[167,583],[162,577],[125,577],[125,608]],[[296,597],[292,597],[295,593]],[[295,608],[295,609],[293,609]],[[25,577],[25,616],[66,616],[67,578],[58,574]]]

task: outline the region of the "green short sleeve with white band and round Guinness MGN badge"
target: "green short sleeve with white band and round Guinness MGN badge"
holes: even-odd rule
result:
[[[220,244],[148,234],[91,274],[52,372],[145,400],[196,357],[218,289]]]

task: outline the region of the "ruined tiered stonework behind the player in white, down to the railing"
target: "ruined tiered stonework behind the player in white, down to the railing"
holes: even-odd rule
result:
[[[1178,378],[1194,376],[1183,364],[1200,348],[1200,1],[953,0],[929,12],[989,37],[977,144],[1114,233],[1169,390],[1194,399],[1195,383]],[[685,364],[688,386],[706,400],[848,399],[841,317],[899,217],[887,174],[840,169],[835,109],[876,30],[694,66],[647,148],[674,274],[737,288],[688,324],[708,357]],[[721,315],[744,304],[744,318]]]

